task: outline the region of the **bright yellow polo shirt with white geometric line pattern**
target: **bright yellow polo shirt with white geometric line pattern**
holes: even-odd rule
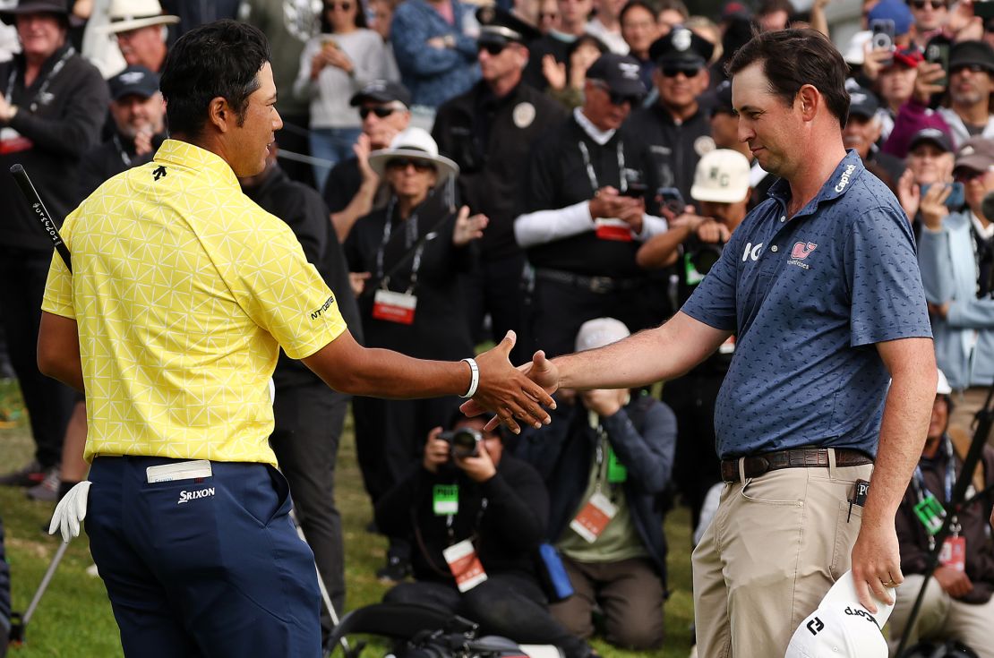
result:
[[[284,222],[231,167],[166,140],[69,218],[73,273],[52,259],[42,308],[79,325],[85,457],[276,463],[268,378],[345,331]]]

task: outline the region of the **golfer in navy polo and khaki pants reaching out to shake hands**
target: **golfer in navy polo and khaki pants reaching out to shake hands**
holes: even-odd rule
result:
[[[547,389],[642,386],[736,335],[715,413],[727,484],[693,558],[708,658],[782,656],[850,567],[864,605],[890,602],[885,587],[903,580],[895,513],[936,379],[908,219],[843,147],[842,57],[815,31],[781,30],[730,70],[739,139],[780,178],[769,198],[672,320],[599,350],[537,353],[530,370]]]

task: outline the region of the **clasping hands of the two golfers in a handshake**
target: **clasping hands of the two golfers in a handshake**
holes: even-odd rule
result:
[[[521,428],[515,418],[540,427],[542,423],[548,424],[551,420],[540,404],[556,409],[556,403],[550,396],[559,388],[559,369],[546,359],[546,353],[541,350],[535,353],[531,362],[514,368],[508,358],[514,347],[514,340],[514,332],[509,331],[496,347],[476,358],[480,367],[480,385],[473,399],[463,403],[460,408],[470,417],[488,411],[495,412],[497,415],[487,423],[487,431],[503,422],[511,431],[518,433]],[[484,382],[488,385],[487,391],[484,390]],[[524,396],[525,405],[512,407],[506,402],[508,396],[512,402],[521,400],[520,397]]]

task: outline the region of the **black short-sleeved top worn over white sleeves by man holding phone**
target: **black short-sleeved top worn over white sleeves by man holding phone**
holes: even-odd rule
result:
[[[589,154],[596,187],[587,173],[580,142]],[[576,117],[571,116],[536,143],[528,180],[522,188],[521,212],[559,210],[589,201],[596,189],[605,185],[618,188],[622,175],[619,145],[625,175],[630,179],[634,174],[654,192],[654,179],[645,171],[645,151],[635,133],[618,130],[606,144],[600,145],[586,134]],[[536,267],[592,276],[635,278],[645,275],[635,264],[635,252],[640,246],[641,243],[635,241],[598,240],[591,229],[577,236],[530,247],[526,252]]]

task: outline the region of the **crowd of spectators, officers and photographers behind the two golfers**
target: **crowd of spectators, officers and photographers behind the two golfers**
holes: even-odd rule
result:
[[[65,218],[167,138],[159,80],[176,39],[246,22],[270,43],[283,127],[265,170],[240,183],[292,229],[357,340],[458,360],[514,331],[515,364],[536,349],[554,357],[659,325],[705,279],[774,182],[740,141],[725,67],[753,31],[827,36],[828,2],[801,14],[789,0],[730,0],[712,16],[682,0],[6,0],[0,171],[23,164]],[[865,29],[840,45],[845,146],[911,223],[944,373],[898,513],[912,577],[892,639],[934,548],[919,509],[949,502],[994,384],[985,4],[867,0]],[[0,198],[0,373],[17,378],[36,446],[0,483],[56,502],[85,479],[84,400],[38,370],[52,244],[6,174]],[[687,505],[700,537],[713,514],[715,407],[735,350],[733,337],[661,400],[561,391],[553,423],[520,436],[462,417],[454,397],[332,392],[281,354],[270,444],[334,607],[346,601],[335,457],[351,408],[369,529],[389,538],[377,574],[396,583],[387,601],[428,601],[567,658],[591,655],[595,634],[663,646],[663,519]],[[994,450],[974,479],[975,492],[994,482]],[[955,640],[994,658],[991,506],[982,498],[955,520],[914,641]],[[463,549],[485,579],[457,567]],[[538,558],[550,554],[572,592],[546,582]],[[0,591],[0,631],[4,600]],[[330,634],[328,610],[322,627]]]

